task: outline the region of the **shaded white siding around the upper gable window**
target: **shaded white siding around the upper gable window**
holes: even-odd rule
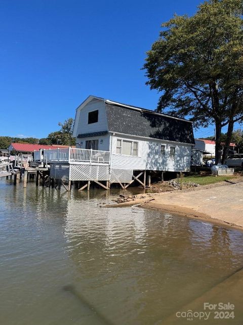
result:
[[[88,124],[88,114],[89,112],[99,110],[98,122]],[[91,100],[87,105],[85,105],[80,112],[77,114],[78,125],[76,135],[82,133],[90,133],[90,132],[98,132],[98,131],[106,131],[107,130],[107,119],[105,112],[105,104],[104,101],[99,99]]]

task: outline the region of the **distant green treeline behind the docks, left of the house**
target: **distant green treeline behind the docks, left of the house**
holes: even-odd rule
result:
[[[19,138],[12,136],[0,136],[0,149],[8,149],[10,143],[20,142],[20,143],[31,143],[39,145],[65,145],[65,146],[75,146],[75,138],[72,137],[74,120],[69,118],[63,123],[59,122],[58,125],[61,127],[59,131],[54,131],[48,134],[46,138]]]

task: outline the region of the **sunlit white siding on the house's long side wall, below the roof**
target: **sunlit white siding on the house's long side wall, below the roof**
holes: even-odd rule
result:
[[[129,139],[138,141],[141,157],[123,156],[116,154],[116,139]],[[159,155],[158,148],[165,145],[165,155]],[[176,148],[175,160],[170,159],[170,147]],[[133,170],[164,170],[164,171],[189,171],[191,161],[191,146],[178,143],[166,143],[156,140],[139,140],[138,138],[113,136],[111,168]]]

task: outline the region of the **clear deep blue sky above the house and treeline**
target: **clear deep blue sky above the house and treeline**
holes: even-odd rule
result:
[[[0,135],[46,137],[90,94],[155,109],[145,52],[162,22],[199,3],[1,0]]]

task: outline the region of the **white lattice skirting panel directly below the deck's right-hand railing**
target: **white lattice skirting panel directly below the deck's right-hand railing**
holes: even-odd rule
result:
[[[70,180],[109,180],[109,166],[70,164]]]

